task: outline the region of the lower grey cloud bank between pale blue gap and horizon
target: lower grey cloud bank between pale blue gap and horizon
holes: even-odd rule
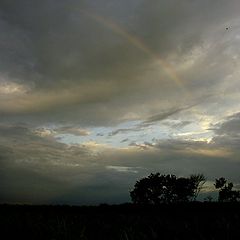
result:
[[[93,142],[66,145],[33,130],[0,127],[1,202],[129,201],[136,180],[157,171],[179,176],[200,172],[210,181],[224,176],[240,182],[239,151],[220,141],[155,139],[113,148]]]

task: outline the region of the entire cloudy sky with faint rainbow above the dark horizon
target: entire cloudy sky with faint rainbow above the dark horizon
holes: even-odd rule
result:
[[[1,0],[0,202],[128,202],[155,172],[240,187],[239,10]]]

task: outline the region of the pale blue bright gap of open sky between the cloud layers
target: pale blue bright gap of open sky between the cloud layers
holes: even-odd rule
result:
[[[178,127],[179,126],[179,127]],[[200,123],[189,122],[181,126],[178,120],[167,120],[142,126],[139,121],[129,121],[115,127],[95,127],[87,129],[88,135],[56,134],[55,138],[65,144],[85,144],[95,142],[114,148],[125,148],[134,144],[151,143],[164,139],[185,139],[209,142],[212,131],[204,129]]]

